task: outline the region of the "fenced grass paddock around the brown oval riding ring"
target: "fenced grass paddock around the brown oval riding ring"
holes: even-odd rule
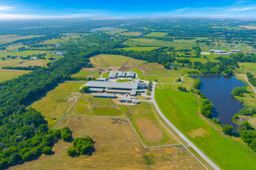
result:
[[[161,125],[161,122],[158,121],[158,118],[155,116],[153,108],[151,107],[150,103],[141,102],[140,104],[135,105],[119,105],[119,107],[121,107],[121,110],[123,110],[127,117],[130,118],[132,125],[134,126],[136,132],[138,132],[139,134],[140,139],[143,140],[143,143],[146,146],[160,146],[179,143],[174,138],[174,136],[171,133],[169,133],[168,130],[163,125]],[[141,118],[150,120],[152,122],[152,125],[146,126],[147,128],[143,129],[143,131],[141,131],[138,127],[138,120],[140,120]],[[153,137],[158,136],[156,132],[154,133],[154,125],[156,125],[157,128],[159,128],[159,132],[162,133],[162,137],[158,139],[158,141],[152,142],[149,139],[147,139],[145,135],[147,135],[147,130],[151,130],[153,131]]]

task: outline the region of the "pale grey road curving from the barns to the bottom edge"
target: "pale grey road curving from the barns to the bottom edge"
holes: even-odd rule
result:
[[[173,130],[182,138],[184,139],[184,141],[190,145],[210,166],[212,166],[214,169],[217,170],[221,170],[220,168],[217,167],[217,165],[211,161],[208,157],[206,157],[205,154],[202,153],[201,150],[198,149],[197,146],[195,146],[193,143],[191,143],[191,141],[189,139],[187,139],[186,136],[184,136],[182,134],[182,132],[180,132],[166,117],[164,114],[161,113],[161,110],[158,107],[158,104],[156,103],[155,99],[154,99],[154,92],[155,92],[155,85],[156,83],[153,83],[153,90],[152,90],[152,97],[151,97],[151,101],[152,103],[154,103],[154,107],[156,108],[156,110],[158,110],[158,114],[161,116],[161,118],[171,127],[173,128]],[[196,157],[195,157],[196,158]],[[197,159],[197,158],[196,158]],[[200,162],[201,163],[201,162]],[[202,163],[201,163],[202,164]]]

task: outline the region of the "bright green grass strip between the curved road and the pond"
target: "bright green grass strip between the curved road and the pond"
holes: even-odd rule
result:
[[[165,117],[223,169],[254,169],[256,156],[240,139],[223,136],[198,114],[198,99],[178,85],[157,85],[156,101]],[[180,85],[181,86],[181,85]]]

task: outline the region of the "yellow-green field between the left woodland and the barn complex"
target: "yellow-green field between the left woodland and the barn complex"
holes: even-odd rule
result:
[[[80,96],[80,92],[72,92],[80,84],[81,82],[79,81],[60,83],[55,89],[47,92],[42,99],[32,103],[31,106],[43,114],[46,121],[48,121],[49,127],[52,128]]]

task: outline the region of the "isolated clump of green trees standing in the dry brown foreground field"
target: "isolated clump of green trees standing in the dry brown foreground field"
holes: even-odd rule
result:
[[[79,137],[72,142],[72,146],[67,150],[67,154],[70,157],[79,156],[79,154],[92,154],[94,150],[93,140],[91,137],[86,136],[85,138]]]

